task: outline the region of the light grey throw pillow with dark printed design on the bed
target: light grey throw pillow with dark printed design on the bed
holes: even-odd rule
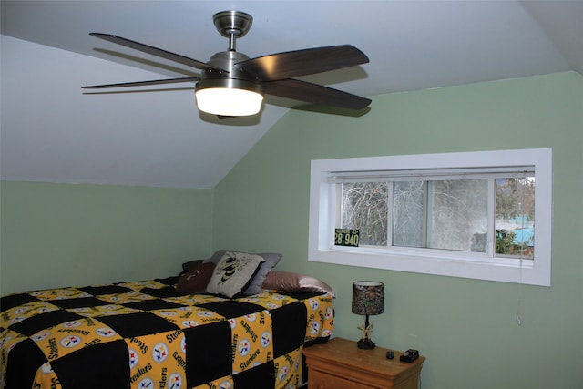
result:
[[[239,295],[252,282],[265,262],[255,254],[227,251],[212,273],[206,292],[229,298]]]

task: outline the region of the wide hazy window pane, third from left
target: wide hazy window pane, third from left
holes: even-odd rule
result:
[[[487,179],[431,181],[428,247],[486,251]]]

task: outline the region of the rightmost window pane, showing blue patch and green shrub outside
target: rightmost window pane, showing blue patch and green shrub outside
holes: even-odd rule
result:
[[[496,179],[496,254],[534,259],[535,178]]]

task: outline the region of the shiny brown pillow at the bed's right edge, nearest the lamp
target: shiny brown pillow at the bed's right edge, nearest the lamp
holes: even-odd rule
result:
[[[326,282],[288,271],[270,271],[265,276],[262,288],[288,293],[327,292],[334,297],[332,287]]]

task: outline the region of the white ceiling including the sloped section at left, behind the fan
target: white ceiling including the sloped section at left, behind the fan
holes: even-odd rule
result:
[[[254,18],[237,43],[250,57],[360,48],[369,64],[303,79],[365,97],[583,74],[582,1],[2,0],[2,179],[213,188],[300,103],[267,97],[260,115],[219,120],[199,114],[189,84],[97,95],[79,87],[197,76],[88,33],[206,62],[228,46],[212,15],[230,9]]]

